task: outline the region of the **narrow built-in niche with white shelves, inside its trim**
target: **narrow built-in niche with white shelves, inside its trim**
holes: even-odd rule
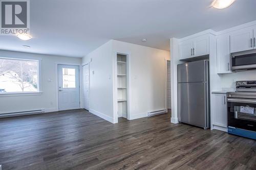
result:
[[[127,55],[117,54],[118,117],[127,118]]]

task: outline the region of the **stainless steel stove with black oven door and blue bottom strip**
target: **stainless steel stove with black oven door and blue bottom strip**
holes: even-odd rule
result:
[[[237,81],[227,93],[228,133],[256,139],[256,81]]]

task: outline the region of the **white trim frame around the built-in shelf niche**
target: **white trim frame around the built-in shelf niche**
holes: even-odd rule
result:
[[[117,102],[117,54],[123,54],[126,55],[126,71],[127,71],[127,76],[126,76],[126,119],[130,120],[130,97],[131,97],[131,53],[127,52],[113,52],[113,120],[114,124],[118,123],[118,102]]]

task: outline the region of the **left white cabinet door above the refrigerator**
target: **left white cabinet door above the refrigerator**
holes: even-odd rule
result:
[[[180,60],[193,57],[193,41],[185,40],[179,44]]]

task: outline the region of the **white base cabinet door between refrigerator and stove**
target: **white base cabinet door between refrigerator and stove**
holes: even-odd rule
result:
[[[213,102],[213,125],[227,127],[227,102],[226,94],[212,94]]]

